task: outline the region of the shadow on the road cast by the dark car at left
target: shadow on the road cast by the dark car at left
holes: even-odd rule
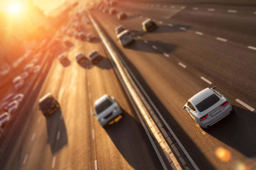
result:
[[[61,118],[60,118],[61,117]],[[67,129],[62,116],[61,107],[49,117],[46,117],[46,127],[51,153],[61,150],[68,143]]]

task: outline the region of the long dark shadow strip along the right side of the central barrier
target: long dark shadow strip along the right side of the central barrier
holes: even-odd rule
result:
[[[201,149],[198,148],[195,142],[187,135],[187,132],[179,125],[177,120],[174,119],[169,110],[157,97],[157,95],[154,93],[154,91],[151,89],[151,87],[148,85],[146,80],[143,78],[143,76],[137,70],[137,68],[133,65],[133,63],[122,52],[122,50],[120,50],[118,47],[116,47],[116,49],[122,56],[125,63],[128,65],[129,69],[133,72],[133,75],[136,77],[138,82],[140,82],[140,85],[143,87],[143,90],[147,92],[148,96],[151,98],[154,105],[156,105],[159,112],[161,112],[161,115],[165,117],[167,124],[170,125],[171,128],[173,128],[172,130],[174,131],[174,133],[177,135],[179,140],[182,141],[182,144],[188,151],[189,155],[192,155],[192,159],[195,161],[197,166],[200,169],[215,170],[215,167],[212,165],[212,163],[210,163],[210,161],[205,157],[204,153],[202,153]]]

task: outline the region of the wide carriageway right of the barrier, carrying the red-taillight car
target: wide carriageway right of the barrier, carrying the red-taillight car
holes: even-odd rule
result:
[[[240,164],[255,169],[256,50],[248,48],[255,46],[255,32],[249,30],[255,16],[237,13],[240,17],[234,20],[230,13],[217,10],[205,15],[207,10],[177,11],[148,4],[119,1],[115,8],[128,14],[125,20],[98,9],[91,13],[200,169],[236,169]],[[141,23],[146,18],[156,21],[157,30],[143,32]],[[119,25],[131,30],[136,40],[127,48],[116,40]],[[230,30],[227,25],[243,27]],[[182,107],[197,92],[213,86],[228,97],[234,112],[204,131]],[[230,159],[219,159],[219,148]]]

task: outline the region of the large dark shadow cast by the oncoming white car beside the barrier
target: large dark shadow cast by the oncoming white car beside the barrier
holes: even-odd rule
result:
[[[123,117],[118,122],[105,128],[105,131],[115,147],[123,155],[123,158],[135,170],[162,169],[158,159],[148,160],[148,158],[157,158],[157,155],[148,140],[143,126],[138,121],[123,110]],[[141,136],[141,138],[138,139],[136,136]],[[145,158],[145,154],[148,153],[143,153],[142,150],[148,150],[150,155],[146,155]],[[151,163],[149,164],[148,161]],[[155,167],[151,167],[152,164]]]

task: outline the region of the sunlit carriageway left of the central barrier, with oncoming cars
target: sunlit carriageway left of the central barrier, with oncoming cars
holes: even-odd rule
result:
[[[84,25],[84,31],[97,36],[92,25]],[[41,76],[28,89],[31,93],[19,110],[25,119],[15,126],[0,169],[162,169],[100,39],[90,43],[61,37],[65,39],[73,46],[59,44],[52,56],[46,55]],[[88,57],[92,50],[103,59],[89,67],[78,65],[75,55],[83,52]],[[67,65],[59,63],[59,54],[68,55]],[[38,110],[38,100],[47,92],[58,100],[60,109],[46,119]],[[113,95],[124,110],[122,119],[108,129],[92,116],[94,101],[104,94]]]

